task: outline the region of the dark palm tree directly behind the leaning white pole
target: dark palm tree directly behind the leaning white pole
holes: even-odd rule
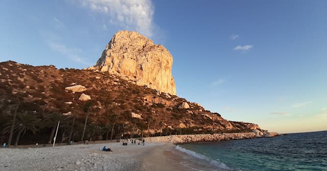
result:
[[[45,116],[43,121],[44,121],[44,126],[47,128],[52,128],[51,133],[49,136],[48,144],[51,144],[51,141],[53,139],[54,131],[58,125],[58,121],[62,121],[63,116],[59,113],[50,113],[48,116]]]

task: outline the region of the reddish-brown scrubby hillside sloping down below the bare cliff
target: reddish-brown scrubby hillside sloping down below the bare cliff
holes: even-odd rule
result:
[[[18,113],[27,111],[40,121],[35,125],[39,136],[49,136],[52,127],[42,126],[42,123],[53,114],[77,118],[73,131],[75,140],[80,139],[87,113],[90,115],[85,133],[87,139],[108,138],[109,132],[113,138],[120,133],[147,136],[148,128],[151,135],[244,132],[258,128],[255,124],[227,121],[197,103],[97,70],[57,69],[53,65],[31,66],[9,61],[0,63],[0,83],[0,129],[10,123],[15,106],[19,104]],[[85,88],[76,89],[76,92],[67,90],[66,87],[72,85]],[[79,100],[83,93],[91,99]],[[63,129],[69,132],[72,121],[61,120],[66,126]],[[8,136],[2,134],[2,139]],[[46,141],[35,137],[28,141]]]

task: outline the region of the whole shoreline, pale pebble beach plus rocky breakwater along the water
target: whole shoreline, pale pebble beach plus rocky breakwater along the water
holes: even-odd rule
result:
[[[276,134],[277,135],[277,134]],[[276,136],[274,135],[274,136]],[[264,136],[259,136],[264,137]],[[145,146],[122,142],[55,147],[0,148],[2,171],[209,171],[201,158],[176,149],[178,144],[259,138],[253,132],[171,135],[145,138]],[[102,147],[111,152],[101,151]],[[30,165],[33,163],[33,165]]]

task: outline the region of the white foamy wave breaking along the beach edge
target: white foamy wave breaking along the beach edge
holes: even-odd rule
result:
[[[200,154],[200,153],[197,153],[195,151],[192,151],[192,150],[187,150],[187,149],[184,149],[184,148],[181,148],[180,146],[176,146],[175,148],[176,150],[179,150],[181,152],[184,152],[190,156],[193,156],[193,157],[196,157],[198,159],[201,159],[201,160],[204,160],[206,162],[208,162],[210,165],[213,165],[215,167],[218,167],[220,169],[224,169],[226,171],[231,171],[230,168],[228,168],[228,166],[226,166],[224,163],[222,162],[219,162],[219,161],[216,161],[216,160],[213,160],[203,154]]]

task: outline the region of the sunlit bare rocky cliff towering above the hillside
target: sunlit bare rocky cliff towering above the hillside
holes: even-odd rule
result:
[[[101,58],[89,69],[119,75],[136,85],[176,95],[172,77],[173,57],[162,45],[133,31],[119,31],[107,44]]]

